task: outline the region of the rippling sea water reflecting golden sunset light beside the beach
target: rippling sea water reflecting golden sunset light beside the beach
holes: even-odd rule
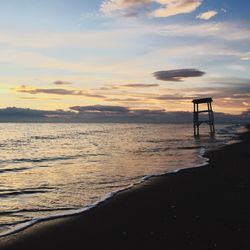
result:
[[[236,128],[197,139],[191,124],[0,124],[0,236],[202,166],[204,150],[235,140]]]

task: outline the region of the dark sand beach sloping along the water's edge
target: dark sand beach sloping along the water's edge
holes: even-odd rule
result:
[[[248,129],[250,127],[248,126]],[[209,165],[152,178],[80,215],[0,239],[0,249],[250,249],[250,132]]]

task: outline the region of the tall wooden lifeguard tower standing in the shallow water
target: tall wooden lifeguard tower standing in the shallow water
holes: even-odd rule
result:
[[[211,136],[214,135],[215,129],[214,129],[214,114],[212,110],[212,102],[213,99],[211,97],[209,98],[202,98],[202,99],[195,99],[193,100],[194,104],[194,136],[198,136],[200,134],[200,125],[202,123],[207,123],[210,126],[210,134]],[[205,103],[207,104],[206,110],[199,110],[199,104]],[[208,113],[208,120],[199,120],[199,114],[200,113]]]

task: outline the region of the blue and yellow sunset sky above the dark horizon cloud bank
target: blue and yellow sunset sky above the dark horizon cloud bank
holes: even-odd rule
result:
[[[192,111],[211,96],[250,113],[250,2],[1,0],[0,95],[0,108],[77,112]]]

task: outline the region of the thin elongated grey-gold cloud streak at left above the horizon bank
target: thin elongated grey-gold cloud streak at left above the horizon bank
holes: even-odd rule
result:
[[[104,99],[106,96],[87,93],[82,90],[69,90],[69,89],[38,89],[38,88],[27,88],[22,85],[19,88],[14,89],[16,92],[27,93],[27,94],[52,94],[52,95],[72,95],[72,96],[86,96]]]

